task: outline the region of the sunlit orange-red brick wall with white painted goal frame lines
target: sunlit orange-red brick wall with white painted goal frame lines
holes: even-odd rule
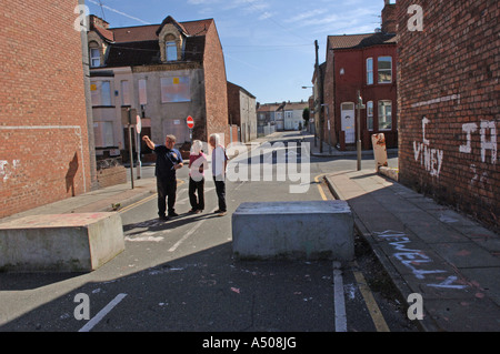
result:
[[[77,4],[2,2],[0,218],[90,188]]]

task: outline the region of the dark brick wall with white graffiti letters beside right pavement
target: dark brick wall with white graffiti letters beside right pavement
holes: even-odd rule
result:
[[[400,181],[498,230],[500,2],[397,4]]]

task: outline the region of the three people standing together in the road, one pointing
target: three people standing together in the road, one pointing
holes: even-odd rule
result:
[[[167,135],[164,145],[156,144],[147,135],[143,136],[142,140],[157,155],[154,175],[157,176],[158,215],[160,220],[178,216],[176,213],[176,172],[181,169],[184,163],[179,150],[174,149],[176,136]],[[220,144],[219,134],[211,134],[209,143],[213,149],[212,176],[219,200],[219,209],[216,213],[219,216],[223,216],[227,213],[226,168],[228,156],[226,155],[224,148]],[[201,213],[204,210],[204,170],[208,170],[208,161],[202,148],[201,141],[193,141],[189,156],[189,201],[191,204],[191,210],[189,212],[196,214]]]

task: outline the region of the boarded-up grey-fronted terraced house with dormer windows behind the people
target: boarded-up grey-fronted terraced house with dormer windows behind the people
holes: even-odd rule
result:
[[[128,109],[132,124],[140,119],[141,135],[156,142],[174,134],[182,145],[211,133],[229,142],[224,57],[213,19],[178,22],[169,16],[160,24],[110,28],[91,16],[88,42],[98,154],[128,150]],[[188,117],[194,119],[192,136]]]

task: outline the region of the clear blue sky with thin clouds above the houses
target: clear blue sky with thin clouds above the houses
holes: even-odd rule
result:
[[[391,1],[393,3],[394,1]],[[307,101],[312,94],[314,40],[319,62],[327,37],[380,28],[383,0],[86,0],[111,28],[213,19],[228,81],[257,102]],[[309,87],[302,89],[302,87]]]

